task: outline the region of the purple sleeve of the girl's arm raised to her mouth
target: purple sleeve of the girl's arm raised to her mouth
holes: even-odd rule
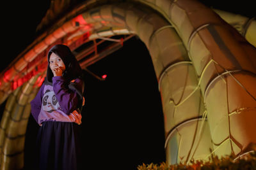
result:
[[[79,93],[83,93],[83,80],[76,78],[76,80],[71,83],[72,87],[75,87],[74,89],[68,88],[69,83],[70,82],[67,82],[63,76],[54,76],[52,78],[54,94],[61,106],[61,110],[67,115],[77,109],[79,103],[81,103]]]

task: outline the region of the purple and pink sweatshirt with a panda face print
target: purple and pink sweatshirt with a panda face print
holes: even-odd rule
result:
[[[63,76],[52,77],[52,85],[43,83],[31,101],[31,113],[39,125],[46,121],[76,122],[81,124],[79,96],[76,89],[83,89],[83,81],[79,78],[67,82]],[[84,104],[84,98],[82,99]]]

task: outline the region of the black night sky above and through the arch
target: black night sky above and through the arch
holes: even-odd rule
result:
[[[202,2],[220,10],[255,16],[253,10],[248,9],[252,8],[252,1],[230,1],[229,5],[222,4],[223,1]],[[33,41],[36,25],[44,17],[49,3],[45,0],[3,3],[2,8],[7,12],[1,10],[1,38],[5,43],[2,59],[13,59]],[[1,71],[9,61],[0,63]],[[143,162],[164,162],[161,97],[146,46],[134,37],[88,69],[99,75],[108,74],[108,77],[99,81],[86,75],[86,107],[81,125],[84,165],[93,169],[136,169]],[[24,151],[27,169],[37,131],[38,125],[30,117]]]

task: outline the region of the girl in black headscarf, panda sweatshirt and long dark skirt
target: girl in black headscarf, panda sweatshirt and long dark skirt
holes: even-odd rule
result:
[[[81,166],[81,108],[83,71],[68,46],[48,53],[45,81],[31,101],[31,114],[40,125],[36,169],[76,170]]]

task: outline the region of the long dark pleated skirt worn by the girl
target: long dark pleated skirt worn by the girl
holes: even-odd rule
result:
[[[81,169],[81,130],[72,122],[43,122],[36,140],[35,169]]]

